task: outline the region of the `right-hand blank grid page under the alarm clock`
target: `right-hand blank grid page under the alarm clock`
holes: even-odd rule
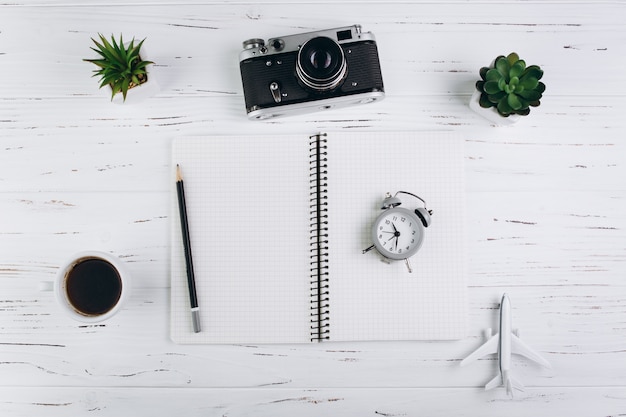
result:
[[[444,340],[467,327],[463,141],[450,133],[328,137],[331,340]],[[420,250],[381,262],[370,227],[385,193],[433,210]],[[419,201],[398,196],[402,207]]]

